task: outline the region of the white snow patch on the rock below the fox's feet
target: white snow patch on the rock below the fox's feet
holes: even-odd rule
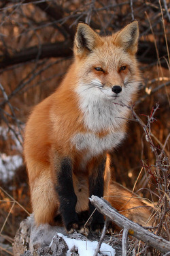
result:
[[[69,250],[67,251],[67,255],[71,255],[71,248],[75,246],[75,248],[78,248],[78,253],[80,256],[93,256],[95,253],[95,249],[97,248],[97,241],[91,242],[91,241],[83,241],[83,240],[75,240],[71,238],[67,238],[67,236],[64,236],[62,233],[57,233],[58,236],[61,236],[67,246],[69,247]],[[114,256],[115,255],[115,250],[112,248],[112,246],[102,243],[100,252],[103,255],[107,256]],[[98,253],[99,255],[99,253]]]

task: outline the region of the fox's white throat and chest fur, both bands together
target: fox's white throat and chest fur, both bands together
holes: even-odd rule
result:
[[[123,126],[129,109],[122,106],[119,98],[108,98],[96,87],[80,84],[76,92],[88,132],[75,134],[71,138],[71,145],[78,151],[86,150],[85,158],[88,159],[112,150],[124,138]],[[99,137],[98,132],[103,130],[108,133]]]

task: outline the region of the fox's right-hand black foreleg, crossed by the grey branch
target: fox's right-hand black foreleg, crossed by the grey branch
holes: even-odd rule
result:
[[[91,175],[89,180],[90,186],[90,197],[92,195],[97,195],[97,197],[103,197],[104,193],[104,171],[105,171],[106,157],[102,160],[99,160],[99,165],[94,169],[94,172],[97,175]],[[94,177],[95,176],[95,177]],[[90,214],[95,210],[95,206],[89,203]],[[92,215],[92,230],[102,229],[104,226],[104,217],[103,214],[95,210]]]

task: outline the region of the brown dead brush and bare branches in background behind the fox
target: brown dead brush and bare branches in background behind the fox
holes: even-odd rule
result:
[[[102,35],[117,31],[134,18],[139,20],[137,58],[143,83],[135,113],[140,119],[132,115],[126,141],[112,154],[112,178],[154,205],[151,217],[156,228],[152,231],[167,240],[169,10],[167,0],[0,1],[2,163],[6,156],[22,155],[24,123],[29,112],[54,91],[71,63],[76,24],[85,21]],[[0,171],[0,177],[0,251],[8,255],[12,251],[7,246],[12,244],[20,221],[31,212],[31,207],[24,166],[6,180]],[[138,240],[131,244],[129,255],[146,255],[150,251]],[[154,251],[153,255],[161,253]]]

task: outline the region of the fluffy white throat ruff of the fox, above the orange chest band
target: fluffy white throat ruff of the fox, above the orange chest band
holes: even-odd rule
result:
[[[121,130],[126,122],[129,109],[122,106],[121,98],[108,98],[99,89],[88,87],[89,85],[82,84],[76,89],[79,107],[84,115],[84,126],[92,132],[112,132],[110,137],[113,138],[113,132]]]

